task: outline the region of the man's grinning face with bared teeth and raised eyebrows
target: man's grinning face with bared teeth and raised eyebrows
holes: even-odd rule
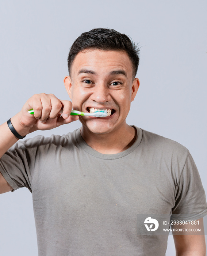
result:
[[[126,125],[139,87],[126,52],[99,49],[78,53],[64,83],[73,109],[87,113],[107,109],[107,117],[79,117],[83,129],[96,134],[114,132]]]

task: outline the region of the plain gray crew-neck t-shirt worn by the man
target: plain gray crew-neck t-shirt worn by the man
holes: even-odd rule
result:
[[[118,154],[93,150],[80,128],[18,142],[0,159],[14,191],[32,192],[39,256],[163,256],[168,236],[137,234],[137,214],[207,214],[195,163],[179,143],[137,128]]]

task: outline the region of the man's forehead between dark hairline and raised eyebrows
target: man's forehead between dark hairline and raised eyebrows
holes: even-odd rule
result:
[[[71,75],[76,77],[81,69],[92,70],[96,74],[107,74],[122,69],[127,76],[132,76],[133,67],[125,51],[86,49],[79,52],[72,64]]]

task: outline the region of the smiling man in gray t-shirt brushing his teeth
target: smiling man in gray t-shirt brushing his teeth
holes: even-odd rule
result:
[[[115,30],[93,29],[73,43],[64,79],[70,101],[37,94],[0,127],[0,192],[32,192],[39,255],[165,255],[168,236],[137,234],[139,214],[207,214],[188,150],[126,124],[139,88],[138,49]],[[78,119],[67,135],[18,138]],[[34,116],[28,110],[34,109]],[[63,109],[62,116],[60,110]],[[175,235],[177,255],[205,255],[203,235]]]

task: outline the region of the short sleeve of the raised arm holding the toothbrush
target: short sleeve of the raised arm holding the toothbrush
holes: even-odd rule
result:
[[[12,146],[0,159],[0,172],[13,188],[12,192],[22,187],[26,187],[32,192],[31,169],[35,163],[37,151],[35,144],[37,144],[36,138],[20,141]]]

